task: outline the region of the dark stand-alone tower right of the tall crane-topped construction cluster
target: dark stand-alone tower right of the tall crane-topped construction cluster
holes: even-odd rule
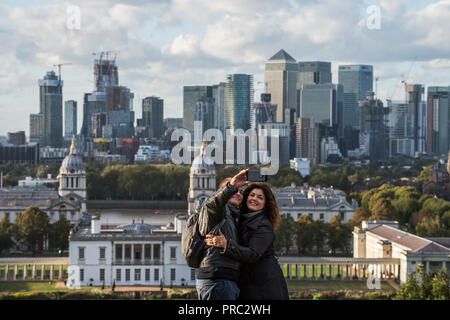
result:
[[[152,138],[161,138],[164,133],[164,100],[159,97],[142,99],[142,126],[150,128]]]

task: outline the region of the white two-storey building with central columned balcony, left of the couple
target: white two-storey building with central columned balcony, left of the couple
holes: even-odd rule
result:
[[[84,215],[69,237],[68,287],[195,285],[194,269],[181,254],[185,215],[166,227],[133,222],[102,229]]]

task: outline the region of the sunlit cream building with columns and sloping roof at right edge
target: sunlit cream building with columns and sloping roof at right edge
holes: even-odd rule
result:
[[[401,230],[397,221],[363,221],[353,231],[353,256],[399,259],[400,282],[404,283],[419,264],[425,266],[426,272],[437,273],[445,268],[449,273],[450,249],[441,244],[448,240],[416,236]]]

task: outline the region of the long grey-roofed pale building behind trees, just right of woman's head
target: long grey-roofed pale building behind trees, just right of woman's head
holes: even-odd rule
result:
[[[345,193],[331,188],[295,186],[273,188],[280,208],[280,214],[289,214],[297,220],[301,215],[308,215],[312,220],[330,222],[335,215],[341,216],[342,223],[350,220],[358,203],[349,203]]]

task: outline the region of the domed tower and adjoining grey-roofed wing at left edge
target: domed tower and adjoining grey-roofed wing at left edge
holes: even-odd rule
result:
[[[14,222],[17,214],[30,206],[47,212],[50,223],[62,217],[76,224],[86,212],[86,171],[83,160],[77,154],[75,138],[69,154],[64,158],[58,175],[59,189],[44,185],[17,186],[0,189],[0,219],[6,215]]]

